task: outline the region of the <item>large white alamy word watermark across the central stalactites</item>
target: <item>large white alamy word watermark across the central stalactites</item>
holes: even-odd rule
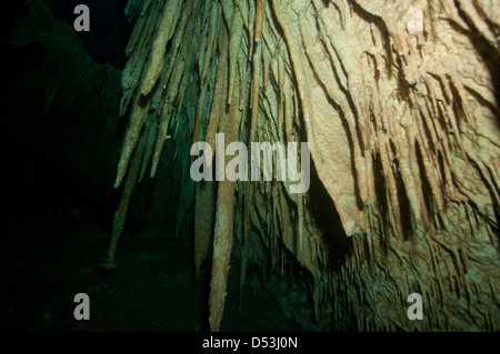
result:
[[[224,134],[216,134],[216,181],[224,179],[239,181],[272,181],[273,156],[276,156],[276,179],[288,182],[286,185],[290,193],[306,193],[310,185],[310,151],[309,143],[300,143],[300,171],[298,171],[298,143],[289,142],[252,142],[249,151],[242,142],[230,142],[226,149]],[[191,155],[201,155],[191,164],[191,179],[196,182],[212,181],[213,179],[213,150],[207,142],[196,142],[191,146]],[[234,156],[238,153],[237,156]],[[234,156],[226,163],[226,156]],[[262,159],[261,159],[262,156]]]

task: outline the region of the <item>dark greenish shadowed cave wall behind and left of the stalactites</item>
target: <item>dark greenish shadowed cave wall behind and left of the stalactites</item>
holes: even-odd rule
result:
[[[126,128],[118,111],[121,72],[96,63],[43,2],[18,1],[7,12],[6,220],[16,230],[67,209],[107,225],[119,200],[110,185]]]

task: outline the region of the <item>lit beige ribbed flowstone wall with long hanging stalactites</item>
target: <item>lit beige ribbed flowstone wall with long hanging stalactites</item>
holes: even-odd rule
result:
[[[299,262],[316,321],[333,330],[498,330],[492,1],[136,0],[127,13],[138,20],[122,73],[124,196],[109,264],[136,181],[157,174],[173,141],[169,158],[183,166],[176,227],[194,200],[212,330],[231,254],[241,284],[252,265],[284,276]],[[194,185],[190,144],[214,146],[218,132],[226,146],[308,141],[310,190]],[[406,316],[416,292],[423,321]]]

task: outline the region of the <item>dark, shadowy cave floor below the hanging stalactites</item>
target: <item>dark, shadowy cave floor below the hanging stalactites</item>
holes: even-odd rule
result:
[[[113,274],[101,271],[110,230],[78,210],[10,220],[2,232],[0,330],[30,332],[208,331],[209,269],[194,284],[186,242],[154,230],[124,233]],[[301,331],[266,291],[243,292],[229,273],[221,331]],[[248,282],[247,282],[248,283]],[[90,297],[77,321],[73,297]]]

